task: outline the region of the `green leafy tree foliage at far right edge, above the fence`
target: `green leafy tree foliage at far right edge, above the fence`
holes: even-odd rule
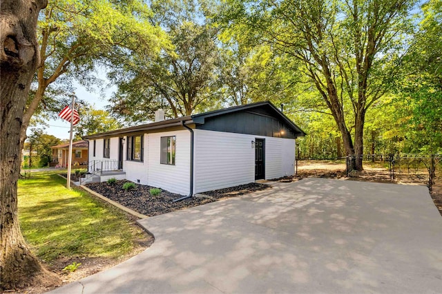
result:
[[[408,152],[442,151],[442,1],[423,5],[396,82],[396,119]]]

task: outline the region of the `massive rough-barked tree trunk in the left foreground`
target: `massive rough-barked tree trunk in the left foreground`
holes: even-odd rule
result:
[[[20,130],[30,83],[38,64],[37,17],[46,4],[46,0],[1,1],[0,288],[3,290],[27,286],[48,273],[26,246],[17,215]]]

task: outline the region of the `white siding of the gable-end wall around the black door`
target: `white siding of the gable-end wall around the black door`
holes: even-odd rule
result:
[[[295,140],[195,129],[194,192],[255,181],[255,149],[251,141],[265,139],[265,178],[294,174]]]

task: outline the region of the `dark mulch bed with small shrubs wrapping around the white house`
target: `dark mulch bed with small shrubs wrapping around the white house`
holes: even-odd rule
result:
[[[214,202],[220,198],[235,197],[253,191],[269,189],[268,185],[253,182],[248,185],[204,192],[204,194],[210,198],[191,197],[173,202],[174,199],[181,198],[182,195],[162,190],[160,195],[151,196],[149,190],[153,187],[138,184],[135,184],[135,189],[125,191],[122,188],[125,182],[130,181],[117,180],[114,184],[109,184],[108,182],[91,182],[86,184],[86,187],[145,216],[158,216],[162,213]]]

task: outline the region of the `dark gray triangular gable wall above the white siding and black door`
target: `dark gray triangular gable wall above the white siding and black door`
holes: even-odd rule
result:
[[[282,120],[271,116],[267,109],[259,108],[205,118],[204,124],[196,125],[196,128],[277,138],[300,136],[294,134]]]

